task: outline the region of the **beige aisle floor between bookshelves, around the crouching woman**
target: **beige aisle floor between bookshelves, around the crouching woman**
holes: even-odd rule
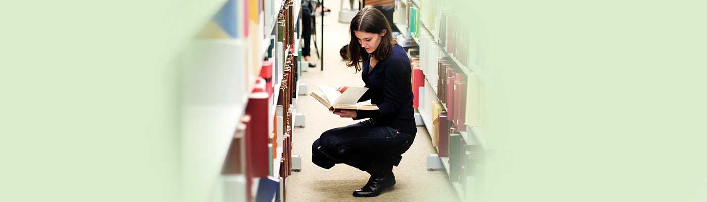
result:
[[[397,184],[387,189],[378,197],[355,198],[351,194],[361,188],[368,180],[366,172],[349,165],[338,164],[330,170],[318,167],[311,161],[312,142],[322,132],[340,126],[355,124],[350,118],[341,118],[309,96],[317,85],[363,86],[361,73],[346,66],[341,59],[339,49],[349,43],[349,24],[338,22],[339,1],[325,1],[332,13],[325,16],[325,55],[324,71],[320,71],[320,62],[312,49],[313,59],[317,59],[316,68],[303,72],[300,83],[307,84],[308,92],[298,99],[298,113],[305,113],[305,127],[295,128],[293,135],[293,154],[302,155],[302,171],[293,172],[287,179],[286,198],[288,201],[459,201],[454,187],[448,180],[445,170],[428,171],[426,154],[436,153],[431,138],[424,128],[418,126],[415,141],[403,154],[399,167],[395,167]],[[317,16],[317,23],[321,16]],[[317,31],[321,30],[317,25]],[[321,34],[317,33],[317,37]],[[320,42],[320,40],[317,40]],[[318,46],[319,44],[317,44]],[[304,94],[301,93],[300,94]]]

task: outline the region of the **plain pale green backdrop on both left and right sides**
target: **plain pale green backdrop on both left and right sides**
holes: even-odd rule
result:
[[[0,201],[178,201],[178,50],[215,1],[0,6]],[[703,1],[459,1],[488,201],[705,201]]]

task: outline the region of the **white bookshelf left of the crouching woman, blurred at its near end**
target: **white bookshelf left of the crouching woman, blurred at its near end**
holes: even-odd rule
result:
[[[288,36],[295,38],[292,47],[286,49],[271,44],[273,35],[277,36],[278,16],[284,9],[289,11],[292,8],[292,18],[286,19],[286,23],[298,23],[300,14],[300,1],[286,0],[229,0],[229,1],[205,1],[199,3],[201,13],[204,18],[189,19],[193,21],[203,20],[200,30],[194,38],[180,50],[178,54],[178,64],[182,69],[184,79],[182,92],[182,107],[180,112],[180,166],[182,167],[182,198],[184,201],[233,201],[234,198],[226,197],[226,193],[233,193],[233,190],[226,189],[225,179],[233,181],[230,173],[224,172],[227,165],[230,165],[230,147],[235,139],[234,133],[241,127],[244,115],[263,109],[262,115],[267,119],[261,124],[254,124],[255,128],[267,126],[268,134],[274,133],[276,119],[276,109],[279,97],[283,97],[279,89],[283,85],[298,85],[298,83],[283,83],[287,60],[290,49],[294,49],[293,54],[296,59],[298,47],[298,33],[291,30]],[[223,20],[223,18],[226,18]],[[295,27],[296,25],[292,25]],[[291,27],[291,28],[292,28]],[[277,40],[274,40],[277,43]],[[272,46],[272,48],[271,48]],[[277,49],[280,49],[277,51]],[[279,59],[274,59],[278,57]],[[267,108],[250,108],[248,103],[251,92],[255,89],[256,80],[262,76],[261,67],[264,65],[263,59],[272,55],[269,61],[272,64],[271,74],[271,97],[267,101]],[[290,58],[290,59],[293,59]],[[293,64],[298,61],[293,61]],[[293,68],[293,66],[289,67]],[[290,69],[295,71],[296,69]],[[288,70],[289,71],[289,70]],[[270,72],[270,71],[267,71]],[[296,77],[289,73],[288,78]],[[267,88],[266,88],[267,89]],[[296,88],[290,88],[296,89]],[[288,94],[288,93],[285,93]],[[292,99],[293,97],[289,96]],[[263,102],[266,103],[266,102]],[[296,105],[296,102],[293,102]],[[289,106],[289,105],[288,105]],[[282,108],[282,107],[281,107]],[[286,107],[286,112],[296,113],[295,107]],[[292,116],[293,123],[296,116]],[[286,122],[287,124],[290,121]],[[248,126],[251,127],[251,126]],[[282,127],[280,125],[280,127]],[[285,152],[282,143],[283,133],[275,136],[275,141],[279,141],[277,147],[269,147],[268,153],[273,153],[272,160],[259,159],[259,161],[269,162],[271,172],[268,175],[280,176],[280,159]],[[272,142],[271,142],[272,143]],[[241,145],[245,147],[245,143]],[[247,149],[246,149],[247,150]],[[288,153],[289,154],[289,153]],[[266,155],[267,157],[267,155]],[[247,165],[247,162],[241,162]],[[267,170],[267,167],[266,167]],[[245,174],[239,174],[245,183]],[[286,176],[285,176],[286,177]],[[235,178],[238,178],[236,176]],[[240,183],[240,182],[239,182]],[[231,184],[232,185],[232,184]],[[257,180],[251,186],[241,184],[238,189],[255,189]],[[250,188],[249,188],[250,187]],[[247,193],[245,190],[235,192]],[[224,195],[226,194],[226,195]],[[233,194],[231,194],[233,195]],[[238,195],[238,194],[236,194]],[[231,196],[233,197],[233,196]],[[235,196],[236,201],[247,201],[243,194]],[[255,195],[252,196],[255,198]]]

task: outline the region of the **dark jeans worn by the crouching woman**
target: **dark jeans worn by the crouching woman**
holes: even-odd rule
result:
[[[398,165],[414,139],[415,134],[368,119],[322,133],[312,143],[312,162],[326,169],[343,162],[369,173],[380,172]]]

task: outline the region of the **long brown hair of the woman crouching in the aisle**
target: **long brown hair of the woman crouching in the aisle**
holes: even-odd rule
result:
[[[395,44],[397,44],[397,41],[392,37],[392,30],[390,30],[388,20],[383,16],[383,13],[373,7],[366,7],[358,11],[354,19],[351,19],[350,30],[349,61],[346,62],[346,66],[353,66],[356,72],[361,71],[361,62],[366,61],[368,52],[358,43],[358,38],[356,38],[354,31],[380,34],[383,30],[386,30],[385,35],[380,39],[378,48],[370,53],[378,61],[387,59],[393,49],[395,49]]]

